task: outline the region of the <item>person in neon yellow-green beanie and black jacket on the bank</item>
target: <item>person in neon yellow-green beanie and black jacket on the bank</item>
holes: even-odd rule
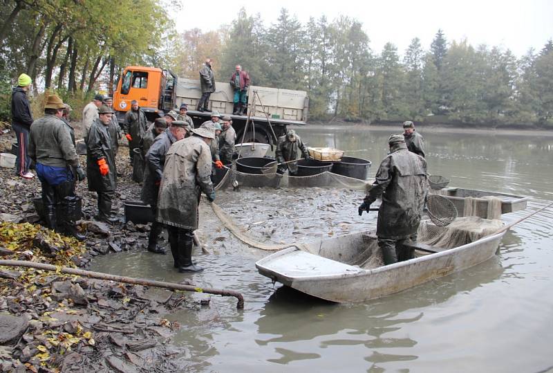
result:
[[[17,87],[12,90],[12,128],[17,138],[17,154],[15,154],[15,170],[18,176],[24,179],[35,177],[29,171],[30,158],[27,148],[29,144],[29,131],[32,125],[32,113],[27,98],[32,80],[29,75],[21,74],[17,80]]]

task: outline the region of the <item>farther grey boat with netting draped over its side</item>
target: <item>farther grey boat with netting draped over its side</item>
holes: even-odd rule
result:
[[[501,213],[525,210],[528,197],[516,196],[500,192],[488,192],[485,190],[444,188],[439,194],[447,197],[457,208],[459,216],[465,216],[465,199],[472,197],[478,199],[475,206],[475,216],[487,218],[489,200],[486,197],[498,197],[501,200]]]

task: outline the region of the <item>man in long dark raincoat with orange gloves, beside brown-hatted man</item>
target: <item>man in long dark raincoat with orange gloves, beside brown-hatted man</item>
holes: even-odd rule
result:
[[[115,169],[115,153],[109,135],[113,110],[102,105],[98,110],[98,118],[93,122],[86,142],[86,174],[88,174],[88,190],[98,195],[98,214],[95,219],[115,224],[118,221],[111,215],[111,203],[117,186],[117,170]]]

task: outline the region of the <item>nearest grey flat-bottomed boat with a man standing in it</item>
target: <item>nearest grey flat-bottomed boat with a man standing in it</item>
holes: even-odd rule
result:
[[[271,280],[317,298],[363,302],[485,262],[495,255],[503,235],[505,231],[449,249],[415,244],[411,248],[431,254],[364,269],[359,264],[377,250],[377,237],[374,232],[352,233],[310,242],[302,250],[285,248],[256,267]]]

